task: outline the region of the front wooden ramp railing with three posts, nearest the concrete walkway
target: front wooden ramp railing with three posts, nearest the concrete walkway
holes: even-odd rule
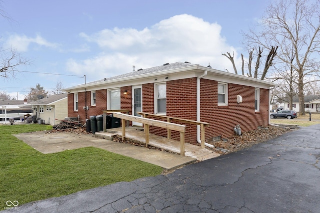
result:
[[[165,121],[157,121],[149,118],[137,117],[133,115],[126,115],[120,112],[114,112],[113,117],[121,119],[122,125],[122,140],[124,140],[125,136],[125,120],[134,121],[138,123],[142,123],[144,125],[145,132],[145,147],[148,146],[149,143],[149,126],[161,127],[164,129],[174,130],[180,132],[180,155],[184,155],[184,133],[185,133],[185,125],[181,124],[173,124]]]

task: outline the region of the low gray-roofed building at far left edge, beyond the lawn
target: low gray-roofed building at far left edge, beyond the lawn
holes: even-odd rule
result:
[[[27,104],[27,100],[2,100],[0,99],[0,121],[6,123],[9,118],[19,120],[24,115],[31,113],[31,106]]]

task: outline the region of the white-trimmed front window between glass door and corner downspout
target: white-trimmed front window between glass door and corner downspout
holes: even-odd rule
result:
[[[154,84],[154,112],[166,114],[166,83]]]

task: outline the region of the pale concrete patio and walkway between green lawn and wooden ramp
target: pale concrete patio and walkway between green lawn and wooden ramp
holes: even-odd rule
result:
[[[154,164],[166,170],[172,170],[196,161],[195,158],[96,138],[92,134],[46,134],[45,132],[46,131],[21,133],[14,136],[43,154],[62,152],[64,150],[78,149],[82,147],[96,147]]]

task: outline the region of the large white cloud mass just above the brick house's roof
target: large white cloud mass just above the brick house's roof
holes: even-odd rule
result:
[[[66,69],[78,74],[94,73],[97,79],[131,71],[132,65],[148,68],[176,61],[189,61],[215,69],[228,69],[230,61],[222,53],[236,49],[220,34],[218,23],[209,23],[188,14],[175,15],[142,30],[133,28],[103,29],[91,35],[80,33],[88,42],[96,43],[100,51],[85,60],[69,59]],[[97,80],[95,79],[95,80]]]

